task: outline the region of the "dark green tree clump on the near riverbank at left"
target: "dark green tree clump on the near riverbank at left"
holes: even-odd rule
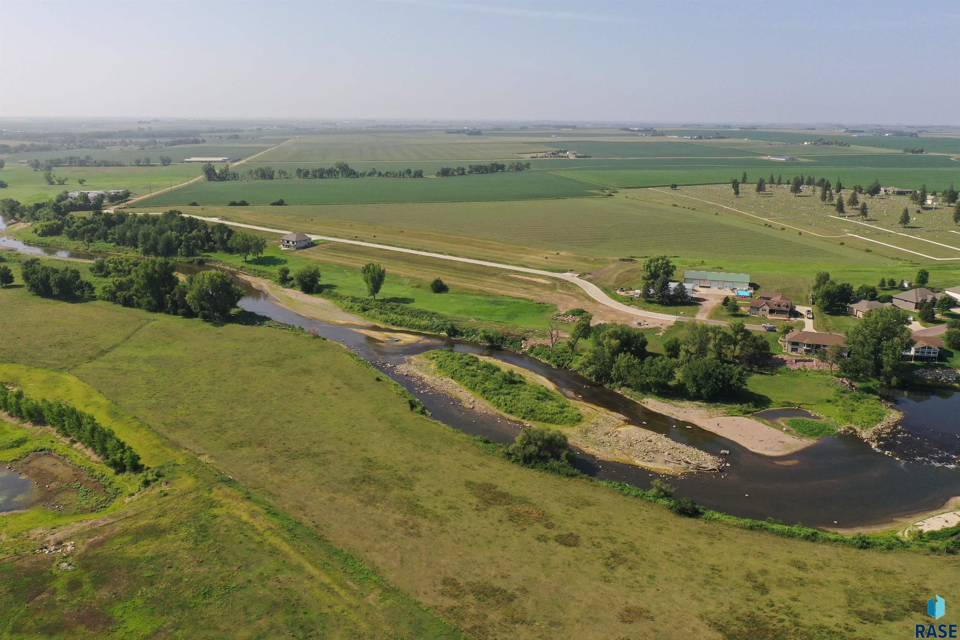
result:
[[[53,267],[39,258],[20,265],[27,291],[36,296],[64,300],[96,296],[125,307],[184,318],[225,320],[243,297],[243,290],[233,284],[228,273],[204,271],[180,280],[175,272],[176,264],[166,258],[101,258],[90,266],[90,273],[109,281],[95,292],[77,269]]]

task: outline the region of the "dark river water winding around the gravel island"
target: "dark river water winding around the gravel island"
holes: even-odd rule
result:
[[[0,238],[0,246],[12,247],[5,245],[4,240]],[[48,254],[51,253],[86,257],[76,251],[51,250]],[[198,269],[203,268],[180,266],[184,272]],[[560,389],[625,415],[630,423],[670,439],[716,455],[723,449],[729,450],[730,454],[723,458],[731,466],[721,474],[685,473],[670,478],[677,486],[677,497],[689,496],[709,509],[750,518],[770,516],[787,524],[858,527],[939,509],[949,498],[960,496],[956,458],[960,455],[960,394],[891,392],[888,399],[896,401],[904,413],[903,429],[890,441],[881,443],[878,450],[856,437],[838,435],[819,439],[803,451],[772,458],[752,453],[695,425],[686,429],[683,420],[651,412],[615,391],[593,386],[575,371],[556,369],[524,354],[432,334],[420,334],[423,340],[416,344],[375,339],[354,330],[369,325],[351,327],[304,318],[279,306],[272,296],[254,289],[247,281],[238,279],[237,284],[246,293],[240,301],[242,308],[345,344],[416,395],[434,419],[470,435],[508,443],[516,438],[520,423],[469,412],[459,402],[451,402],[449,397],[425,390],[416,380],[397,374],[394,367],[407,356],[441,347],[487,355],[535,371]],[[378,330],[388,336],[396,333],[389,328]],[[597,478],[641,487],[660,477],[633,464],[601,461],[583,452],[577,453],[576,466]]]

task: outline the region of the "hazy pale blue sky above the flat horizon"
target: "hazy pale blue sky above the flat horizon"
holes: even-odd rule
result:
[[[0,2],[0,115],[960,124],[960,2]]]

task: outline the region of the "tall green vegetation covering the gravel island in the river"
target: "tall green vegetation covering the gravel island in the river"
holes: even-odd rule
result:
[[[485,363],[469,353],[436,349],[424,356],[433,361],[440,373],[507,414],[566,426],[577,424],[584,417],[557,391],[531,384],[516,371]]]

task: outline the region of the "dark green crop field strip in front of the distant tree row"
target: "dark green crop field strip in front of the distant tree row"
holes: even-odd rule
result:
[[[582,180],[545,171],[450,178],[200,180],[138,204],[156,207],[190,201],[205,205],[241,200],[269,204],[281,198],[289,204],[539,200],[589,198],[595,195],[589,191],[594,188]]]

